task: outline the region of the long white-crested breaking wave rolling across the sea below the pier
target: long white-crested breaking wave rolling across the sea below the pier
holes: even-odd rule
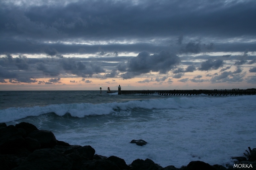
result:
[[[239,97],[169,97],[165,99],[130,100],[125,102],[113,102],[102,104],[75,103],[54,104],[44,107],[11,107],[0,110],[0,122],[11,122],[28,116],[39,116],[47,113],[55,113],[63,116],[70,114],[73,117],[85,117],[89,115],[108,115],[120,110],[144,109],[178,109],[190,107],[208,107],[220,105],[230,101],[242,100]],[[249,97],[249,96],[247,96]],[[248,98],[246,98],[248,99]],[[254,97],[255,99],[255,97]]]

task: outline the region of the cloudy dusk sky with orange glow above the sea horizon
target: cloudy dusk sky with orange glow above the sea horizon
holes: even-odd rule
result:
[[[256,88],[255,0],[1,0],[0,90]]]

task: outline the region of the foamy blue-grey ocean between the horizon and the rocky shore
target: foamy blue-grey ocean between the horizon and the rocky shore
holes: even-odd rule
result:
[[[180,168],[200,160],[232,165],[256,147],[256,95],[117,95],[106,91],[0,91],[0,122],[29,122],[57,140],[91,145],[129,165],[151,159]],[[143,139],[144,146],[131,144]],[[233,164],[234,165],[234,164]]]

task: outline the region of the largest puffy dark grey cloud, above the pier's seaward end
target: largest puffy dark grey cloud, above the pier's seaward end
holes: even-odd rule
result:
[[[127,72],[122,74],[124,79],[133,78],[143,73],[155,71],[166,73],[180,63],[180,58],[177,55],[170,54],[162,50],[159,54],[150,55],[143,51],[138,56],[132,57],[127,62]]]

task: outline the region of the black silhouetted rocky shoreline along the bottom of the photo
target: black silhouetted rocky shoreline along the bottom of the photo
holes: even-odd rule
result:
[[[141,142],[141,141],[139,141]],[[143,142],[143,141],[142,141]],[[145,142],[145,141],[144,141]],[[145,143],[146,144],[146,143]],[[192,161],[187,166],[162,167],[151,159],[135,159],[127,165],[116,156],[95,154],[91,146],[70,145],[58,141],[51,131],[39,130],[35,125],[21,122],[6,126],[0,123],[0,169],[61,169],[61,170],[230,170],[256,169],[256,148],[249,148],[246,157],[233,157],[234,166],[209,165]]]

